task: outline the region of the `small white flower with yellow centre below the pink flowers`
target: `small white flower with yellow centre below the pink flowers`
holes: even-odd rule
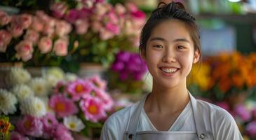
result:
[[[64,118],[64,125],[69,129],[74,132],[80,132],[83,130],[84,127],[86,127],[82,120],[77,118],[76,116],[69,116]]]

